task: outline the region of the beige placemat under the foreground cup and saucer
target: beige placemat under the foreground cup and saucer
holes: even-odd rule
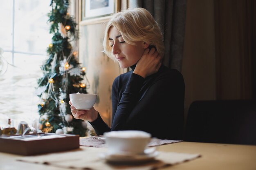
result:
[[[79,170],[158,170],[200,157],[200,154],[159,152],[155,160],[141,164],[111,164],[99,157],[107,148],[83,147],[80,149],[52,154],[18,157],[16,160],[27,163],[40,163],[58,168]]]

